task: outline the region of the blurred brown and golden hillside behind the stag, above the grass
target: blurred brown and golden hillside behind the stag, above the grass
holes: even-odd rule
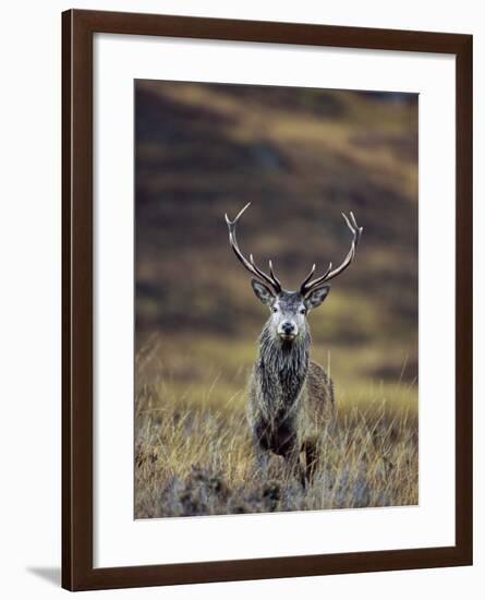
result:
[[[288,289],[355,262],[308,320],[337,401],[417,406],[417,96],[137,81],[136,377],[184,403],[244,403],[267,309],[242,251]],[[317,271],[318,273],[318,271]]]

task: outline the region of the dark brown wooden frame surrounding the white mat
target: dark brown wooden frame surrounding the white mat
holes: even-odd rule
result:
[[[456,56],[456,545],[93,568],[95,33]],[[87,590],[472,564],[472,36],[71,10],[62,14],[62,586]]]

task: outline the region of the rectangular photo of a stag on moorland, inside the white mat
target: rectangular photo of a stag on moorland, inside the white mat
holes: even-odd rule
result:
[[[134,517],[416,505],[417,95],[134,95]]]

